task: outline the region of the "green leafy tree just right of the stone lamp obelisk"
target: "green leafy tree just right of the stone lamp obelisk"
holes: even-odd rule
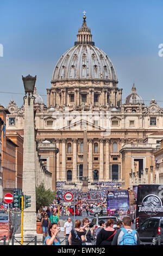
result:
[[[55,199],[56,192],[52,192],[51,189],[46,190],[43,183],[39,187],[36,187],[36,211],[42,206],[48,206],[52,204]]]

